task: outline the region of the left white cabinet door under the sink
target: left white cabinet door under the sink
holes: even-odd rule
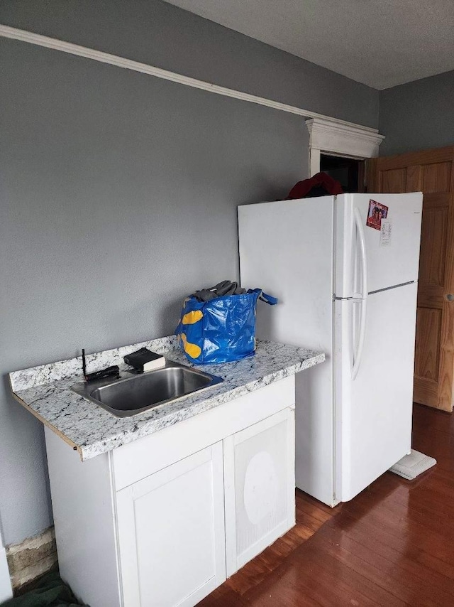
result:
[[[116,494],[125,607],[194,606],[226,579],[222,441]]]

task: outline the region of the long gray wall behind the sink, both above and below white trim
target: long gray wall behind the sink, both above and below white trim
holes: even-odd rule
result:
[[[3,1],[0,22],[377,123],[376,91],[159,1]],[[172,333],[184,295],[238,275],[236,205],[282,197],[307,175],[308,135],[292,114],[0,45],[0,519],[11,543],[52,515],[42,427],[6,373]]]

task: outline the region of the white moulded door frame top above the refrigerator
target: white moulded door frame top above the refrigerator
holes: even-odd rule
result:
[[[309,130],[309,169],[313,176],[320,171],[320,154],[358,159],[378,156],[384,136],[377,129],[360,127],[358,124],[341,124],[337,120],[310,118],[306,120]]]

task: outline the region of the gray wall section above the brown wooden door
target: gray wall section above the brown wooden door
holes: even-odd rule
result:
[[[380,156],[454,145],[454,71],[380,92]]]

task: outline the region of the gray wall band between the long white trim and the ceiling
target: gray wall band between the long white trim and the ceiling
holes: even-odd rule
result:
[[[378,126],[378,91],[159,0],[2,0],[0,22]]]

